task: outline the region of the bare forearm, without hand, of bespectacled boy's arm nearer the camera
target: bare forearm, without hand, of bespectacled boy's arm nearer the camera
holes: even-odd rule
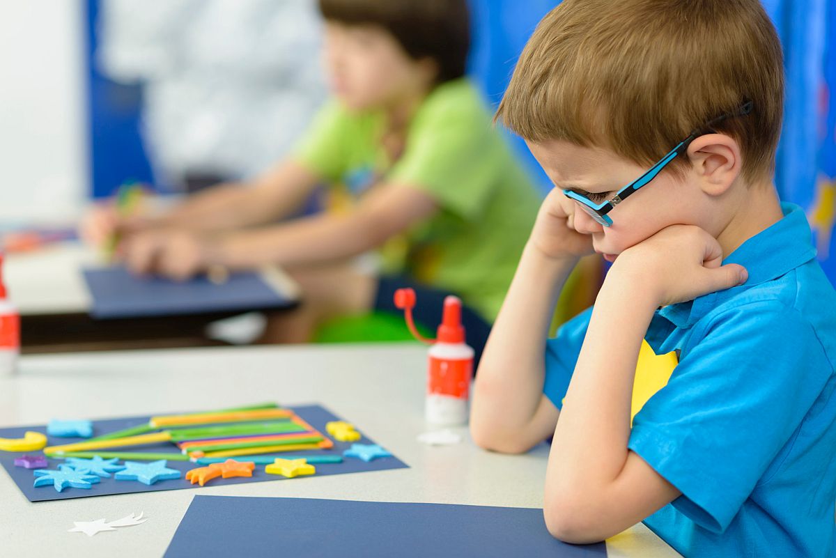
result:
[[[547,498],[605,490],[627,460],[635,365],[657,302],[624,279],[611,271],[595,302],[554,432]]]

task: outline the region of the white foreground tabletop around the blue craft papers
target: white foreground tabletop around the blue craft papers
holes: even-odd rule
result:
[[[0,378],[0,425],[49,418],[111,418],[276,401],[321,403],[410,465],[298,482],[215,484],[193,490],[30,503],[0,472],[0,555],[161,556],[193,495],[288,496],[542,507],[548,447],[524,455],[416,441],[423,419],[426,349],[412,343],[212,347],[26,356]],[[46,489],[44,489],[46,490]],[[147,522],[92,538],[73,521],[144,512]],[[644,525],[607,542],[610,556],[679,556]]]

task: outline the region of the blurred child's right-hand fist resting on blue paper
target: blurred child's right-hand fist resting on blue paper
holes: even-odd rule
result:
[[[211,248],[211,241],[186,231],[143,232],[125,242],[125,264],[136,274],[186,281],[212,264]]]

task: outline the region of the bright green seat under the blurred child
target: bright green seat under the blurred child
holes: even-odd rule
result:
[[[416,324],[418,325],[418,324]],[[418,325],[425,337],[435,337],[434,332]],[[370,312],[359,316],[340,316],[320,325],[314,332],[314,342],[381,342],[415,341],[406,327],[403,316],[385,312]]]

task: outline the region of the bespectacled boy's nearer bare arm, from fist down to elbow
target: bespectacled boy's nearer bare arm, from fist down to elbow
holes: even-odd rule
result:
[[[604,281],[554,431],[544,512],[559,539],[603,540],[680,491],[628,450],[635,364],[655,309],[740,284],[717,241],[670,226],[621,253]]]

